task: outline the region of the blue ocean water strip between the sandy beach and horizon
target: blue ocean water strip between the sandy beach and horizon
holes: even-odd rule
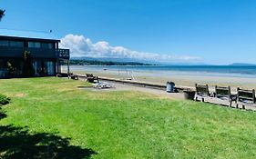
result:
[[[73,65],[71,70],[76,71],[130,71],[143,73],[179,74],[179,75],[208,75],[234,76],[256,78],[256,66],[238,65],[143,65],[143,66],[95,66]]]

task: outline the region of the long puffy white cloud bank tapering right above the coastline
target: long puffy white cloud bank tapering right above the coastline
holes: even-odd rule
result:
[[[200,60],[200,57],[197,56],[162,55],[157,53],[132,51],[123,46],[111,46],[105,41],[93,44],[89,38],[86,38],[83,35],[66,35],[61,39],[60,46],[69,48],[72,57],[128,58],[158,62],[194,62]]]

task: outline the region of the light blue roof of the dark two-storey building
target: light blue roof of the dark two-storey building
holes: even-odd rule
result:
[[[13,30],[13,29],[0,29],[0,36],[15,37],[15,38],[26,38],[36,40],[59,40],[50,32],[38,32],[38,31],[26,31],[26,30]]]

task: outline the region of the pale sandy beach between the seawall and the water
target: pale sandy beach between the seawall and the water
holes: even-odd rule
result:
[[[63,66],[63,71],[67,69]],[[97,76],[129,79],[142,82],[166,84],[172,81],[179,86],[193,87],[194,84],[230,85],[232,90],[237,87],[256,88],[256,78],[253,75],[218,74],[201,72],[180,72],[180,71],[150,71],[150,70],[118,70],[108,66],[77,66],[71,65],[70,72],[75,74],[94,74]]]

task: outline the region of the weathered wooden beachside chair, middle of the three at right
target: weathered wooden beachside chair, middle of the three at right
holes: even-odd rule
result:
[[[221,99],[221,100],[229,100],[230,104],[229,106],[232,105],[232,102],[236,101],[236,96],[235,94],[231,94],[231,89],[230,86],[215,86],[215,93],[214,97]]]

